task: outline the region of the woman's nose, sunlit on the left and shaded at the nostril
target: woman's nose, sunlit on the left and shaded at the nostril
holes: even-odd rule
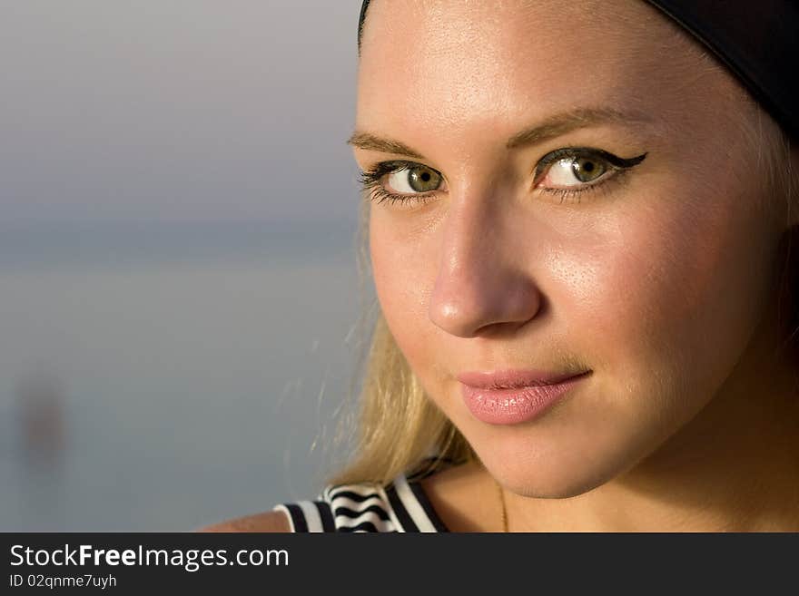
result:
[[[538,285],[526,271],[531,257],[508,214],[478,201],[450,207],[443,224],[439,269],[429,318],[447,333],[477,337],[500,327],[512,330],[535,318],[542,307]],[[503,225],[508,221],[508,225]]]

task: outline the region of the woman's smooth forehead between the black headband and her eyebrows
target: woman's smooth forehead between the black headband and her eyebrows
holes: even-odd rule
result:
[[[723,78],[698,55],[641,0],[372,0],[357,126],[509,132],[580,107],[674,112]]]

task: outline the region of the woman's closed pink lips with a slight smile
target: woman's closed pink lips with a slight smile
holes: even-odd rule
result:
[[[478,420],[518,425],[541,415],[558,398],[591,374],[553,375],[536,370],[463,373],[463,400]]]

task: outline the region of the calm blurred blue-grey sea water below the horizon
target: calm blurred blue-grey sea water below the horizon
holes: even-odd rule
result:
[[[353,231],[0,234],[0,529],[188,531],[315,496],[346,451]]]

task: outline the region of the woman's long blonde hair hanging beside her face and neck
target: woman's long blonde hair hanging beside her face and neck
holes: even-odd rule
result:
[[[766,177],[765,188],[787,200],[786,216],[791,221],[799,210],[799,169],[794,167],[787,134],[756,103],[754,118],[746,121],[743,133],[758,148],[757,171]],[[359,226],[360,294],[370,271],[368,251],[370,200],[361,201]],[[795,226],[799,228],[799,226]],[[790,242],[790,234],[788,242]],[[787,339],[784,346],[799,339],[799,250],[791,247],[784,259],[780,281],[780,307],[786,308],[783,321]],[[363,305],[362,305],[363,306]],[[355,426],[355,458],[330,484],[388,484],[397,474],[433,472],[451,463],[477,460],[466,438],[425,394],[411,371],[376,303],[361,308],[360,325],[371,329],[368,350],[360,355],[362,385],[359,411],[342,418],[340,434],[352,436]],[[799,342],[797,342],[799,343]],[[355,391],[351,392],[355,395]]]

